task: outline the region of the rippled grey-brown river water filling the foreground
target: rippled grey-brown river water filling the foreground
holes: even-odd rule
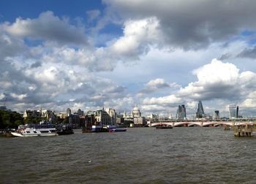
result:
[[[0,137],[0,183],[256,183],[256,136],[181,127]]]

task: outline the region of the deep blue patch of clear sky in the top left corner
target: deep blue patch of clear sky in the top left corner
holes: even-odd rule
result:
[[[1,18],[8,21],[15,21],[16,18],[37,18],[41,12],[53,11],[59,16],[69,16],[69,18],[86,18],[86,11],[91,9],[104,9],[105,5],[101,1],[82,0],[45,0],[45,1],[1,1]]]

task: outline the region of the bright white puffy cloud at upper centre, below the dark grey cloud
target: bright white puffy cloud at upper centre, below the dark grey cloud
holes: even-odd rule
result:
[[[150,45],[159,44],[162,39],[157,18],[127,20],[124,36],[117,39],[110,50],[121,58],[138,58],[140,54],[147,53]]]

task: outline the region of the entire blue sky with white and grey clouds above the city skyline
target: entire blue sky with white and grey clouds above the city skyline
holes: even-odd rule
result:
[[[256,1],[0,1],[0,103],[12,110],[256,116]]]

